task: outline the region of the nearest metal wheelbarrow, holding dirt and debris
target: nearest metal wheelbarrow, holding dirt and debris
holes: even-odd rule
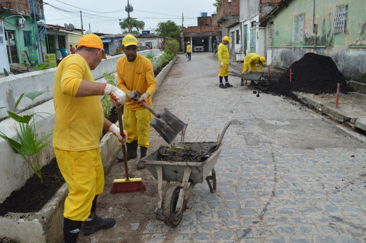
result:
[[[158,180],[158,209],[155,215],[157,220],[163,221],[169,227],[178,226],[182,220],[183,211],[192,209],[191,206],[187,206],[187,202],[197,183],[206,180],[210,192],[216,191],[216,173],[213,167],[224,147],[221,141],[230,124],[231,122],[228,122],[225,126],[217,142],[184,143],[184,134],[182,134],[180,143],[161,146],[157,151],[141,159],[141,162]],[[200,151],[198,162],[161,160],[161,156],[165,156],[169,149]],[[209,175],[210,172],[211,175]],[[163,181],[166,182],[164,191]],[[212,185],[210,181],[213,181]],[[180,183],[170,185],[170,182]]]

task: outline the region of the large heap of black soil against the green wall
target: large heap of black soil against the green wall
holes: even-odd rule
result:
[[[292,79],[290,83],[290,69]],[[337,83],[340,92],[348,94],[352,88],[347,87],[346,79],[339,72],[335,62],[328,56],[315,53],[306,53],[300,60],[295,61],[277,82],[271,82],[267,92],[293,98],[291,91],[323,94],[337,92]]]

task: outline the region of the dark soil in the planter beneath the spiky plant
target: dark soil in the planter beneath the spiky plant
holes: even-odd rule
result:
[[[56,191],[65,183],[56,159],[41,169],[43,184],[36,174],[27,180],[18,191],[13,191],[9,197],[0,204],[0,216],[8,212],[30,213],[38,212],[52,198]]]

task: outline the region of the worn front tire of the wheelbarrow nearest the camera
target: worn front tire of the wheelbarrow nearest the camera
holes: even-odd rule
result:
[[[178,185],[172,185],[168,188],[168,191],[165,194],[162,205],[163,216],[170,216],[175,211],[178,202],[179,191],[180,186]],[[172,221],[164,221],[164,223],[169,227],[175,228],[182,220],[182,216],[183,216],[183,209],[175,219],[173,219]]]

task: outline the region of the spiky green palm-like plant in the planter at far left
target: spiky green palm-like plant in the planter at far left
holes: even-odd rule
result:
[[[42,118],[40,114],[45,113],[34,113],[33,110],[33,101],[36,99],[36,97],[40,96],[44,92],[47,91],[31,91],[24,93],[20,95],[19,99],[16,101],[14,110],[16,109],[16,106],[18,106],[20,100],[23,98],[23,96],[29,98],[32,100],[32,113],[27,115],[17,115],[15,113],[12,113],[8,111],[9,116],[14,119],[15,122],[18,122],[20,133],[18,131],[18,128],[16,129],[16,132],[18,133],[18,137],[20,140],[20,143],[18,143],[15,140],[12,140],[10,137],[7,137],[3,132],[0,131],[0,136],[7,141],[15,153],[18,153],[21,155],[25,161],[30,165],[34,173],[36,173],[38,180],[43,183],[42,174],[41,174],[41,163],[38,153],[44,148],[47,144],[51,142],[47,141],[44,144],[42,144],[49,136],[52,135],[52,130],[49,132],[46,132],[45,134],[41,136],[37,136],[37,129],[39,129],[41,126],[36,127],[36,124],[39,122],[37,118]],[[0,109],[5,108],[1,107]],[[49,114],[49,113],[45,113]]]

